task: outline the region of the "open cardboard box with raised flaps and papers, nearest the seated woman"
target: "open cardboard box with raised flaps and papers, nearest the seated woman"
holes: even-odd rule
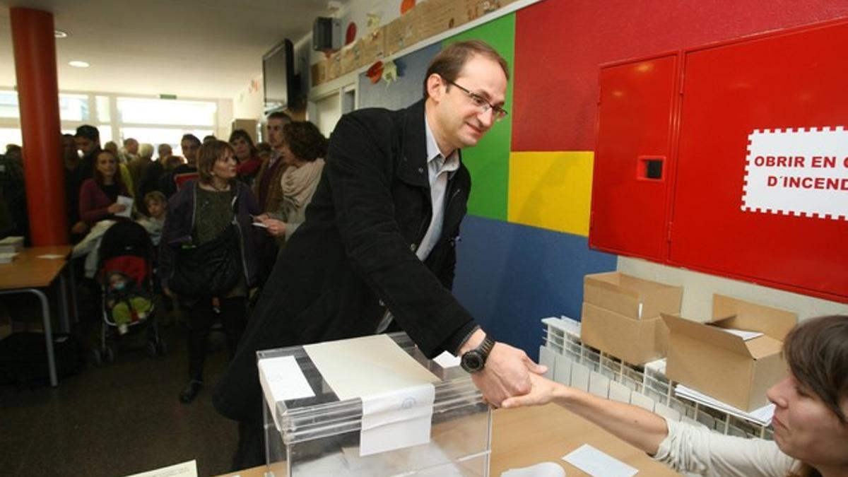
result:
[[[750,411],[765,406],[768,388],[786,375],[780,350],[798,321],[795,313],[713,295],[708,323],[667,314],[662,317],[670,330],[668,379]],[[722,328],[763,335],[743,340]]]

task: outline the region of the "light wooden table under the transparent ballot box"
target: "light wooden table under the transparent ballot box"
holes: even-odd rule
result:
[[[499,477],[507,469],[536,463],[555,462],[566,470],[567,477],[589,475],[561,457],[583,444],[589,444],[612,457],[639,469],[638,475],[663,477],[679,475],[648,457],[604,429],[572,412],[549,404],[544,407],[499,409],[494,412],[492,431],[491,477]],[[246,469],[226,477],[265,477],[265,466]],[[275,472],[275,477],[286,477]],[[341,477],[341,476],[339,476]]]

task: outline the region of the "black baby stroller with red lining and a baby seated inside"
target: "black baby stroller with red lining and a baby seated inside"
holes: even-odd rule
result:
[[[96,366],[113,362],[114,341],[123,334],[147,331],[148,356],[165,355],[165,342],[153,309],[153,244],[136,222],[121,221],[103,233],[98,248],[103,323],[100,346],[92,351]]]

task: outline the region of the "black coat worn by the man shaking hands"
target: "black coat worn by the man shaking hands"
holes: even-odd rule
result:
[[[388,307],[427,356],[455,351],[475,323],[450,294],[455,241],[471,177],[449,179],[438,244],[416,247],[431,219],[424,101],[407,109],[360,109],[330,137],[306,222],[287,242],[248,329],[215,392],[229,418],[261,412],[255,352],[373,334]]]

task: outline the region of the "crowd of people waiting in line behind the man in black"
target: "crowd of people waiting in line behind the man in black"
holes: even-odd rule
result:
[[[235,352],[248,297],[257,293],[278,250],[304,221],[321,177],[327,141],[318,128],[282,112],[269,115],[267,123],[267,143],[254,143],[241,129],[229,141],[185,134],[182,155],[170,144],[154,149],[134,138],[120,148],[112,141],[101,145],[98,129],[89,125],[62,136],[70,238],[74,256],[84,262],[92,300],[104,286],[96,274],[98,240],[114,223],[135,220],[153,244],[155,290],[165,304],[176,299],[187,310],[188,381],[179,394],[184,403],[204,387],[204,358],[215,321]],[[20,152],[9,145],[0,155],[0,219],[4,233],[25,235]],[[216,257],[226,263],[210,268]],[[192,270],[192,260],[199,270]]]

